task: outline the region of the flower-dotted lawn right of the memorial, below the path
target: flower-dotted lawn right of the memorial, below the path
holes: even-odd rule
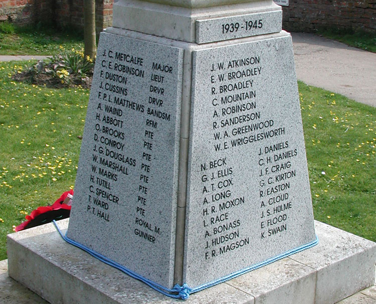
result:
[[[299,83],[314,217],[376,241],[376,108]]]

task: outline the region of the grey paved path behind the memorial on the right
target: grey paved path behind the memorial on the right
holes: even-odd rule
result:
[[[376,106],[375,53],[313,34],[291,36],[298,80]]]

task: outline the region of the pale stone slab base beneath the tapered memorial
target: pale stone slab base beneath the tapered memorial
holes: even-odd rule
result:
[[[57,222],[66,231],[68,219]],[[194,293],[186,303],[331,304],[374,284],[376,244],[315,222],[317,246]],[[8,235],[9,275],[51,304],[176,303],[65,242],[52,223]]]

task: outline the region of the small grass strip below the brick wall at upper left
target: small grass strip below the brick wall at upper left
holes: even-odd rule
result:
[[[83,35],[77,32],[56,32],[53,28],[16,27],[0,23],[0,55],[53,55],[59,47],[81,50]]]

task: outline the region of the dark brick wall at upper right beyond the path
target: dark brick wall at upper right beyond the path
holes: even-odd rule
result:
[[[376,0],[290,0],[282,10],[282,28],[290,32],[322,27],[376,32]]]

